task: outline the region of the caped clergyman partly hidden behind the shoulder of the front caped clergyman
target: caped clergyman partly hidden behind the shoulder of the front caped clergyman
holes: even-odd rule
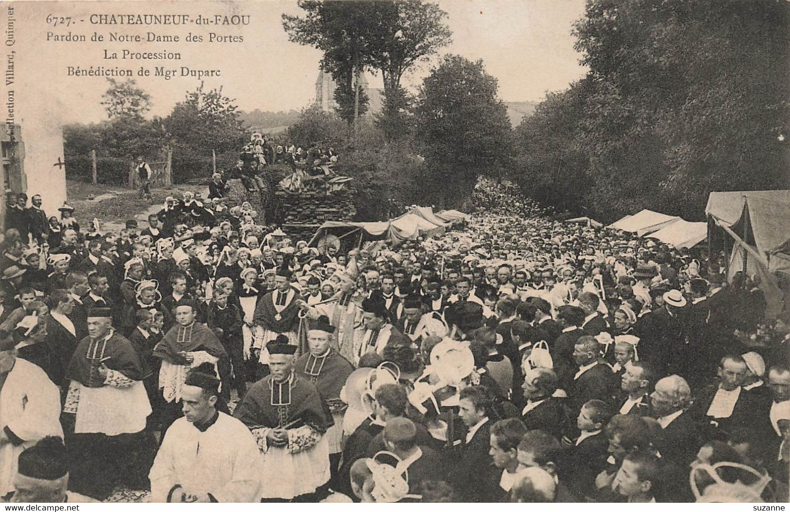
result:
[[[311,320],[307,327],[307,344],[309,351],[295,362],[295,371],[305,379],[310,379],[318,387],[318,393],[329,406],[334,424],[324,435],[329,442],[329,462],[333,478],[340,465],[340,454],[343,453],[343,415],[348,407],[340,400],[340,390],[346,379],[354,371],[347,359],[337,353],[330,345],[331,335],[335,328],[329,325],[329,318],[319,316]]]

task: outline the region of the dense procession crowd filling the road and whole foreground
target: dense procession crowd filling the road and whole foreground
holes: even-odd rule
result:
[[[5,499],[787,501],[790,314],[717,257],[489,182],[319,252],[224,190],[119,233],[9,198]]]

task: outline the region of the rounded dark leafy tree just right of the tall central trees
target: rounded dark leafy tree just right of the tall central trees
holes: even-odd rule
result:
[[[483,61],[447,55],[423,81],[416,140],[426,160],[428,186],[440,206],[468,196],[478,176],[499,174],[510,152],[511,129],[497,80]]]

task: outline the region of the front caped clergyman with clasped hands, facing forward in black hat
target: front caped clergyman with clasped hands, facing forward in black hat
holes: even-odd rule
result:
[[[296,346],[280,334],[266,346],[270,374],[254,383],[234,417],[250,428],[261,452],[262,498],[314,500],[329,481],[332,423],[314,383],[294,372]]]

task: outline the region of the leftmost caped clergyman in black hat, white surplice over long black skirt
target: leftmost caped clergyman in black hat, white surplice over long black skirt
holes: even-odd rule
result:
[[[149,371],[148,371],[149,372]],[[88,312],[88,336],[66,372],[66,439],[74,448],[70,488],[107,499],[116,484],[144,488],[150,460],[145,420],[149,375],[131,342],[115,332],[109,308]],[[152,455],[152,454],[150,454]]]

